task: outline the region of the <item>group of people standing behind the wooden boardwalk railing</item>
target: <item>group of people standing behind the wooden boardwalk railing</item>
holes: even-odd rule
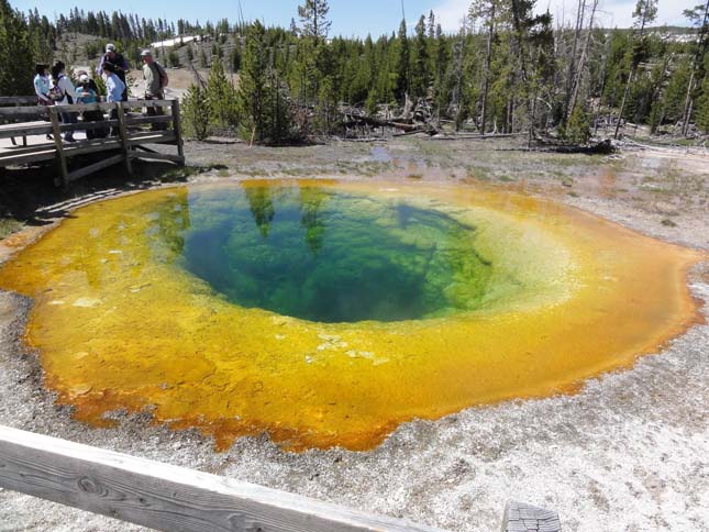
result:
[[[143,79],[145,80],[145,99],[162,100],[165,98],[165,87],[167,87],[167,73],[154,58],[149,49],[144,49],[141,54],[143,59]],[[96,81],[84,70],[76,73],[78,86],[66,74],[66,65],[57,60],[52,68],[47,65],[37,64],[35,67],[34,91],[37,96],[40,106],[67,106],[71,103],[97,103],[101,101],[101,95]],[[126,74],[130,71],[130,65],[125,57],[115,49],[115,45],[108,44],[106,54],[97,69],[99,76],[106,80],[107,102],[128,101],[128,82]],[[147,108],[148,115],[155,115],[162,112],[155,108]],[[77,113],[60,112],[62,122],[66,124],[77,123]],[[103,113],[97,111],[84,111],[85,122],[100,122],[103,120]],[[111,111],[111,120],[118,119],[118,110]],[[153,124],[153,129],[159,129],[162,124]],[[108,129],[93,128],[86,131],[87,138],[101,138],[109,134]],[[118,135],[118,130],[112,129],[111,135]],[[47,140],[53,140],[47,135]],[[64,134],[65,142],[76,142],[74,131],[67,131]]]

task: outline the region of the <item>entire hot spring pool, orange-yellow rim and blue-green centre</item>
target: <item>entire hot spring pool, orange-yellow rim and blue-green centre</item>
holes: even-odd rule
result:
[[[0,270],[78,419],[372,448],[569,391],[693,322],[699,253],[468,186],[250,181],[81,208]]]

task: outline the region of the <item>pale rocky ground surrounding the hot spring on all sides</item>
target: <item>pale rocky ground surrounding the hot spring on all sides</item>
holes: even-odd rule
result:
[[[66,207],[164,182],[250,177],[486,181],[552,197],[639,232],[709,250],[709,157],[658,148],[613,156],[530,153],[480,141],[407,137],[265,148],[189,143],[193,167],[143,166],[81,181],[67,196],[41,171],[0,174],[0,234],[48,225]],[[62,203],[67,202],[68,203]],[[47,206],[60,203],[55,209]],[[34,226],[34,228],[33,228]],[[18,243],[13,235],[5,243]],[[709,311],[709,265],[689,276]],[[29,307],[0,295],[0,424],[286,489],[448,530],[497,530],[505,502],[553,508],[568,531],[709,530],[709,326],[698,324],[632,368],[574,396],[474,408],[400,426],[367,453],[284,453],[266,436],[228,453],[193,432],[90,429],[53,404],[20,342]],[[0,531],[139,530],[0,490]]]

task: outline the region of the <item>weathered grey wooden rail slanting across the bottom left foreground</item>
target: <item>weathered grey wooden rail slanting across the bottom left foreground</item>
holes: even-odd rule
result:
[[[157,530],[436,530],[4,426],[0,486]]]

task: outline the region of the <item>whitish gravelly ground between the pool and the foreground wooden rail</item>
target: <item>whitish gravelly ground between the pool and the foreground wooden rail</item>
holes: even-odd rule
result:
[[[690,286],[707,313],[709,265],[695,268]],[[509,499],[557,510],[565,531],[709,531],[708,325],[577,395],[407,423],[368,453],[289,454],[264,436],[217,454],[191,431],[152,428],[141,417],[118,430],[89,429],[53,406],[36,361],[21,356],[27,306],[0,293],[2,424],[452,531],[499,530]],[[142,529],[0,490],[0,531],[16,530]]]

